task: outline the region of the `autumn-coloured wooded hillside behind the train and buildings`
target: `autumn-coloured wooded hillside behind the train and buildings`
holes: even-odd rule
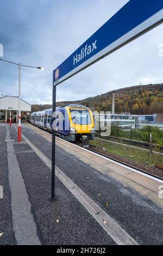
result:
[[[163,84],[149,84],[118,89],[80,101],[57,102],[57,106],[77,103],[95,107],[97,111],[111,111],[112,93],[115,92],[115,112],[125,108],[131,114],[153,114],[163,112]],[[33,105],[32,111],[51,108],[51,105]]]

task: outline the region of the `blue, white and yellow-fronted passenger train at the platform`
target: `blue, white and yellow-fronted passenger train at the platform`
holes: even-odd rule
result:
[[[70,104],[56,108],[55,131],[57,136],[70,142],[83,142],[95,138],[95,125],[91,110],[83,105]],[[34,112],[29,123],[52,131],[52,108]]]

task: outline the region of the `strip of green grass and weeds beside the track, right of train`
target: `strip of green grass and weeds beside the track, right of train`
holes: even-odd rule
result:
[[[112,142],[104,142],[99,139],[93,141],[98,148],[104,148],[109,153],[126,157],[127,159],[134,160],[137,163],[143,163],[147,166],[155,164],[163,166],[163,156],[159,154],[150,154],[148,151],[140,150],[136,148],[130,148],[124,145],[118,145]]]

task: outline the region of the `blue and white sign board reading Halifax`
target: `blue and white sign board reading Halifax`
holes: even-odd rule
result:
[[[116,51],[163,22],[163,0],[130,0],[53,72],[53,85]]]

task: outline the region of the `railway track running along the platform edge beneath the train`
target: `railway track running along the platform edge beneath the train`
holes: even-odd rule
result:
[[[41,129],[40,127],[36,127],[35,125],[32,125],[30,123],[28,123],[29,126],[32,126],[32,127],[35,127],[35,129],[38,129],[38,130],[41,130],[43,132],[46,132],[47,134],[51,135],[52,136],[52,132],[49,132],[49,131],[46,131],[44,129]],[[60,138],[62,139],[62,138]],[[64,140],[64,139],[63,139]],[[77,145],[78,147],[81,147],[81,148],[84,148],[88,151],[91,151],[93,153],[96,153],[98,155],[101,155],[102,157],[105,157],[106,159],[110,159],[114,162],[117,162],[117,163],[120,163],[122,166],[126,166],[126,167],[129,167],[129,168],[132,168],[132,169],[135,169],[137,172],[140,172],[140,173],[143,173],[145,175],[148,175],[148,176],[151,176],[155,179],[159,179],[159,180],[163,180],[163,178],[161,176],[158,176],[158,175],[155,175],[155,174],[152,174],[150,172],[147,172],[146,170],[142,170],[140,168],[137,168],[135,166],[132,166],[131,164],[128,164],[128,163],[124,163],[120,160],[117,160],[117,159],[114,159],[113,157],[110,157],[108,155],[105,155],[105,154],[102,154],[102,153],[99,153],[98,150],[96,150],[96,146],[95,145],[92,145],[90,144],[89,142],[83,142],[83,143],[73,143],[75,145]]]

